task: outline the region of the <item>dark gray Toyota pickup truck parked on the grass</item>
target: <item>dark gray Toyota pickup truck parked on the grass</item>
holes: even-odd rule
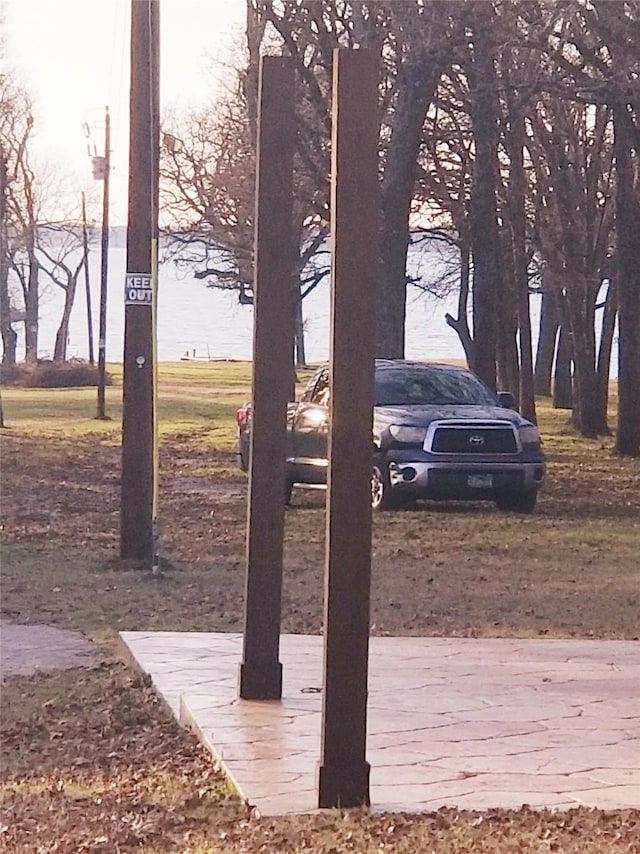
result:
[[[238,457],[249,464],[251,407],[237,412]],[[287,499],[299,486],[327,480],[329,369],[319,368],[299,403],[287,409]],[[416,499],[488,500],[530,513],[545,479],[537,427],[453,365],[379,359],[371,504],[392,509]]]

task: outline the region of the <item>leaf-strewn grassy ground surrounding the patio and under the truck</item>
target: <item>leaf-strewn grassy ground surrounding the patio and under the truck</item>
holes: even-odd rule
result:
[[[116,371],[116,383],[119,377]],[[442,811],[247,820],[190,736],[114,661],[121,629],[238,630],[245,477],[233,414],[243,363],[163,365],[160,578],[117,557],[120,410],[93,390],[4,389],[3,613],[82,629],[103,664],[3,686],[7,851],[638,852],[640,814]],[[533,516],[425,505],[376,518],[376,633],[636,637],[637,461],[542,405],[549,485]],[[285,631],[320,630],[323,499],[287,514]]]

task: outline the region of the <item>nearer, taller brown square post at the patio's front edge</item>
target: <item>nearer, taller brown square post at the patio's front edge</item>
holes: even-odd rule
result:
[[[334,52],[331,414],[318,806],[369,804],[366,752],[378,275],[378,57]]]

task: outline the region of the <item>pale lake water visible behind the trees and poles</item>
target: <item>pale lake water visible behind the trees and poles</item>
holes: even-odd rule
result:
[[[417,263],[414,259],[414,263]],[[421,263],[424,263],[422,259]],[[433,264],[437,264],[433,259]],[[100,252],[89,256],[91,302],[94,318],[94,349],[97,358]],[[124,338],[124,279],[126,250],[111,247],[107,300],[107,361],[120,362]],[[42,279],[44,282],[44,278]],[[42,288],[39,354],[50,357],[62,308],[62,291],[48,284]],[[534,346],[537,338],[540,298],[531,297]],[[329,354],[329,287],[319,285],[304,300],[306,352],[309,362]],[[406,356],[412,359],[464,359],[456,333],[447,326],[446,312],[456,314],[456,296],[439,299],[414,287],[407,294]],[[251,359],[253,309],[240,305],[234,292],[208,288],[201,281],[178,272],[172,263],[159,272],[158,358],[177,361],[185,356],[209,359]],[[22,332],[21,327],[16,327]],[[20,339],[19,358],[23,342]],[[69,329],[68,356],[88,357],[84,275],[81,276]],[[614,364],[615,372],[615,364]]]

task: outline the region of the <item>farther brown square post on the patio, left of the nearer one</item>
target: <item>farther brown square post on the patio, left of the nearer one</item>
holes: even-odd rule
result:
[[[253,395],[240,697],[282,696],[279,661],[286,412],[293,365],[293,62],[260,63]]]

